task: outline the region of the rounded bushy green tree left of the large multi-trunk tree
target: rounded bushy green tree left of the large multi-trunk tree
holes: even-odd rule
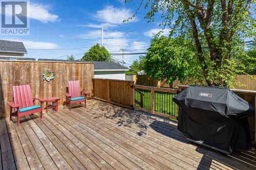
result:
[[[155,37],[148,48],[144,70],[158,81],[166,79],[172,87],[176,79],[183,82],[194,75],[194,68],[198,65],[193,61],[195,56],[196,49],[190,40]]]

